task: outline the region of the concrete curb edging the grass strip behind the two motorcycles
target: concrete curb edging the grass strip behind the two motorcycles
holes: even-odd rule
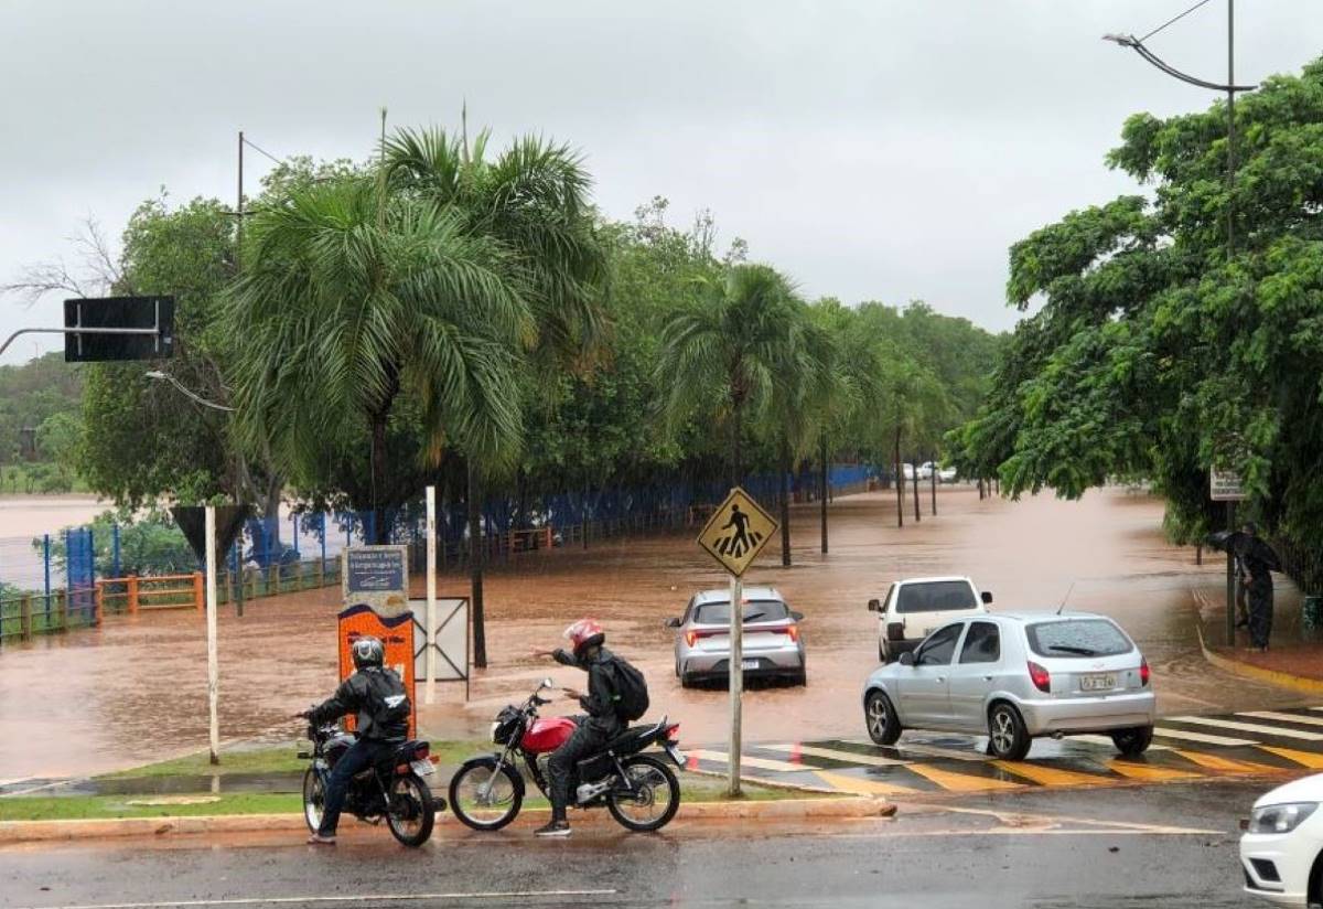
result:
[[[529,808],[520,820],[541,823],[549,808]],[[447,818],[443,812],[438,820]],[[890,818],[896,806],[869,797],[781,799],[774,802],[691,802],[683,803],[676,820],[824,820]],[[614,824],[605,811],[574,812],[576,826]],[[450,818],[458,827],[458,822]],[[516,822],[519,824],[519,822]],[[527,826],[527,823],[519,824]],[[95,820],[7,820],[0,823],[0,844],[58,843],[111,839],[119,836],[198,836],[216,834],[306,832],[300,814],[198,815],[193,818],[118,818]]]

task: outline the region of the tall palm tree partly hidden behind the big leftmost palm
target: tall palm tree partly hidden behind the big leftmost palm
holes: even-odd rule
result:
[[[534,369],[587,365],[606,328],[599,306],[606,255],[593,230],[591,180],[566,146],[524,136],[488,160],[490,138],[483,130],[470,144],[466,132],[398,131],[385,143],[390,189],[435,206],[467,236],[496,242],[517,258],[532,327],[521,347]],[[482,480],[499,474],[493,467],[501,462],[476,456],[462,441],[459,447],[467,464],[474,663],[486,667]]]

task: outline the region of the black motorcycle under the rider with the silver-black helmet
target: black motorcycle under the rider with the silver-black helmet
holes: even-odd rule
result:
[[[312,761],[303,774],[303,819],[315,834],[321,824],[331,769],[353,745],[355,736],[333,724],[308,724],[307,737],[312,750],[299,752],[300,759]],[[369,824],[385,819],[392,836],[404,845],[426,843],[437,823],[437,811],[446,810],[446,799],[434,798],[423,779],[437,773],[430,752],[425,741],[401,742],[376,766],[353,777],[345,794],[345,812]]]

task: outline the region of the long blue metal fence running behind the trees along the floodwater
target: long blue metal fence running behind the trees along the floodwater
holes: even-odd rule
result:
[[[830,483],[835,495],[867,488],[873,470],[865,464],[835,464]],[[779,503],[781,480],[777,474],[749,476],[744,488],[771,508]],[[789,478],[795,492],[816,495],[818,475]],[[689,525],[725,498],[728,484],[721,480],[677,480],[632,488],[586,490],[532,495],[524,500],[511,496],[488,498],[482,507],[482,546],[486,552],[509,557],[523,548],[581,542],[638,532],[679,529]],[[423,503],[385,513],[388,539],[410,546],[415,570],[425,554]],[[376,516],[372,512],[312,512],[284,517],[254,517],[225,560],[221,580],[222,602],[233,599],[242,584],[243,594],[269,595],[306,589],[319,584],[339,582],[339,556],[356,544],[374,539]],[[516,531],[528,532],[520,537]],[[0,540],[0,640],[13,638],[17,628],[19,602],[30,609],[33,619],[28,631],[41,627],[70,627],[95,619],[95,585],[98,578],[119,578],[124,573],[149,577],[201,570],[188,550],[183,532],[165,531],[177,540],[156,540],[155,548],[124,549],[126,529],[111,525],[95,535],[91,527],[69,528],[61,535]],[[534,533],[540,532],[540,533]],[[437,537],[442,568],[467,560],[472,552],[468,512],[463,501],[441,501],[437,513]],[[54,545],[62,542],[61,546]],[[520,544],[520,545],[516,545]],[[58,613],[58,615],[57,615]]]

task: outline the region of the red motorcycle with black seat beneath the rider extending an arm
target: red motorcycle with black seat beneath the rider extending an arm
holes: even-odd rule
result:
[[[542,679],[523,707],[511,705],[497,713],[492,742],[501,750],[466,761],[451,778],[450,808],[468,827],[500,830],[519,816],[525,786],[513,754],[524,758],[537,789],[549,794],[546,761],[576,729],[569,717],[537,716],[538,707],[550,704],[538,695],[550,687],[552,680]],[[656,753],[643,750],[659,744],[676,766],[684,767],[676,740],[679,729],[679,724],[668,724],[665,717],[652,725],[632,726],[579,761],[570,779],[570,806],[606,806],[622,827],[632,831],[665,827],[680,807],[680,783]]]

